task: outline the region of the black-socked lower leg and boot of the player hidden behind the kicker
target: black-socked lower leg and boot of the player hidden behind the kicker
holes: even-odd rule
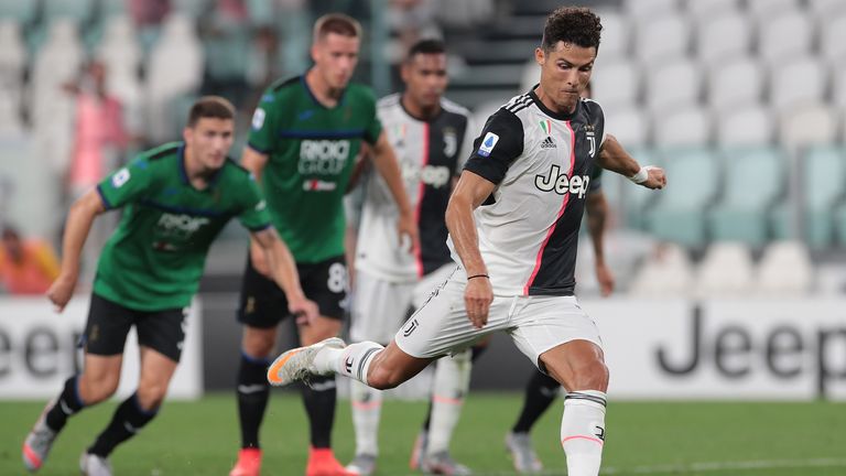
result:
[[[529,379],[520,416],[511,432],[506,435],[506,448],[511,454],[511,461],[518,473],[536,473],[543,469],[529,433],[534,423],[555,401],[560,391],[561,383],[541,371],[535,371]]]

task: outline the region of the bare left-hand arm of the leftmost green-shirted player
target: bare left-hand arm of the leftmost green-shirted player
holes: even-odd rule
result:
[[[62,268],[47,290],[47,299],[62,312],[70,301],[79,277],[79,257],[97,215],[106,212],[102,198],[91,190],[70,205],[65,234],[62,237]]]

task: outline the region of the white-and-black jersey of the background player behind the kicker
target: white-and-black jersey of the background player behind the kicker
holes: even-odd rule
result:
[[[397,236],[399,210],[381,175],[371,173],[359,224],[356,269],[391,282],[414,282],[451,262],[444,213],[452,180],[470,155],[469,111],[441,99],[441,112],[425,121],[412,117],[393,94],[379,100],[377,111],[393,147],[414,207],[420,248],[403,249]]]

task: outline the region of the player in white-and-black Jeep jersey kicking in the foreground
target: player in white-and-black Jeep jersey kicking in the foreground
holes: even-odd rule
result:
[[[608,369],[596,324],[573,295],[578,228],[594,163],[649,188],[664,172],[598,155],[604,117],[579,98],[599,46],[599,18],[561,8],[535,50],[540,84],[495,112],[475,142],[446,212],[459,268],[394,340],[345,346],[332,338],[281,355],[274,385],[339,374],[395,387],[442,355],[502,331],[567,389],[561,444],[571,476],[596,476],[605,444]]]

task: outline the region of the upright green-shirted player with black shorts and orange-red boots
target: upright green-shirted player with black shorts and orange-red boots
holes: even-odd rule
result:
[[[267,90],[243,153],[243,166],[261,182],[273,226],[291,247],[305,294],[319,306],[319,316],[297,321],[303,345],[336,336],[341,328],[347,292],[343,198],[362,140],[371,145],[373,165],[397,203],[399,232],[416,247],[414,213],[377,117],[376,98],[349,82],[360,39],[358,22],[347,15],[318,19],[311,48],[314,67]],[[243,324],[237,390],[241,451],[231,476],[259,474],[259,426],[270,393],[267,368],[279,323],[289,315],[285,295],[268,279],[262,256],[253,244],[238,311]],[[330,447],[335,400],[334,376],[317,377],[303,388],[311,422],[306,475],[348,474]]]

